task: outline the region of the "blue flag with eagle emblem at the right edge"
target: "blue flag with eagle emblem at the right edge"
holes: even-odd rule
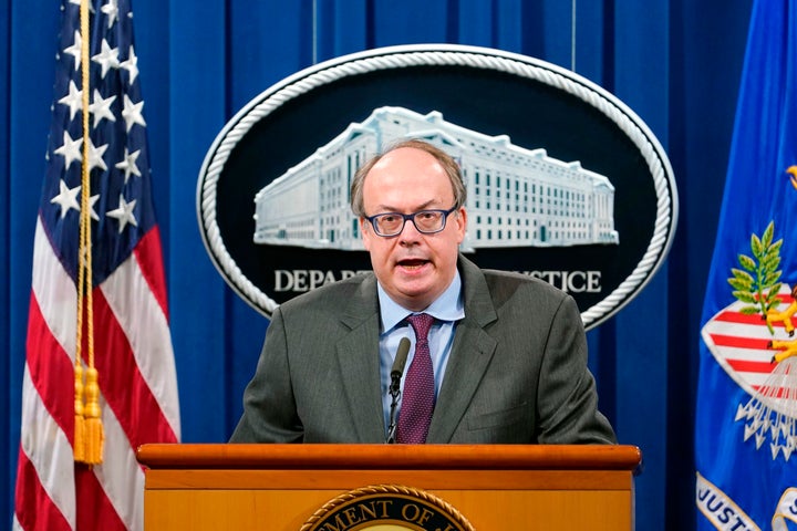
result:
[[[754,2],[701,319],[698,530],[797,530],[797,0]]]

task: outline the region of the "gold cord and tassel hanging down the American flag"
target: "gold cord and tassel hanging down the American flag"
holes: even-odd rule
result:
[[[77,263],[77,337],[75,342],[75,428],[74,459],[86,465],[102,462],[105,434],[100,410],[100,386],[97,371],[94,367],[94,310],[92,299],[92,246],[91,246],[91,197],[90,183],[90,135],[89,128],[89,93],[90,93],[90,58],[89,46],[89,0],[81,0],[81,80],[83,103],[83,164],[81,165],[81,216],[80,243]],[[85,321],[84,317],[85,316]],[[85,344],[87,368],[85,386],[83,385],[83,327],[86,329]],[[85,404],[84,404],[85,394]]]

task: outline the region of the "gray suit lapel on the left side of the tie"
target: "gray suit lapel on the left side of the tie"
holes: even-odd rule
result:
[[[384,440],[385,428],[379,366],[380,315],[373,277],[363,281],[343,309],[341,322],[351,332],[338,342],[335,350],[356,440],[379,442]]]

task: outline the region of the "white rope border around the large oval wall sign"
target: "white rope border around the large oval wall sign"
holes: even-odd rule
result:
[[[672,170],[666,157],[663,153],[660,153],[658,143],[652,139],[652,134],[649,135],[642,131],[641,126],[629,116],[629,114],[632,114],[630,110],[621,110],[617,103],[611,102],[594,88],[587,86],[584,83],[579,83],[562,73],[558,73],[550,67],[545,67],[541,63],[542,62],[538,65],[531,62],[520,61],[519,59],[487,55],[486,53],[477,53],[475,51],[456,51],[456,48],[452,45],[435,51],[396,50],[384,55],[366,56],[342,64],[334,64],[320,71],[311,72],[308,75],[299,76],[284,86],[278,87],[270,95],[268,95],[269,91],[263,93],[261,97],[267,97],[250,108],[245,110],[245,114],[240,116],[238,122],[236,122],[230,129],[225,129],[226,134],[222,132],[224,137],[221,142],[215,146],[213,156],[210,157],[208,154],[208,160],[206,160],[203,166],[203,173],[206,175],[206,178],[201,183],[197,196],[197,208],[200,211],[201,226],[204,229],[200,231],[203,239],[205,240],[206,247],[209,247],[211,250],[217,266],[231,281],[232,289],[244,295],[248,301],[253,302],[257,309],[265,310],[268,316],[270,316],[279,305],[241,273],[237,263],[227,251],[220,237],[219,227],[216,223],[216,189],[219,176],[235,146],[255,124],[268,116],[283,103],[343,76],[365,74],[377,70],[421,65],[472,66],[528,77],[579,97],[609,117],[640,149],[653,176],[656,194],[656,219],[653,237],[645,253],[631,274],[602,301],[581,312],[581,320],[584,326],[589,326],[598,324],[617,313],[625,303],[630,302],[630,300],[627,300],[627,296],[634,291],[641,290],[644,283],[646,283],[645,280],[650,280],[653,272],[655,272],[663,261],[663,257],[666,254],[669,244],[671,243],[669,236],[674,231],[676,214],[674,211],[676,204],[673,200],[673,198],[676,198],[675,184],[671,179],[667,179],[667,176],[672,175]],[[673,191],[672,198],[667,194],[670,189]],[[624,303],[622,303],[623,301]]]

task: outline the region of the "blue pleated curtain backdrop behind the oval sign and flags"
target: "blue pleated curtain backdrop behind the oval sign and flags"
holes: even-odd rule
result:
[[[0,410],[8,412],[0,527],[13,510],[59,3],[0,0]],[[638,529],[694,527],[698,324],[749,2],[134,0],[133,8],[186,442],[228,438],[268,326],[226,287],[197,228],[198,171],[226,121],[314,62],[394,44],[490,46],[573,69],[614,93],[670,155],[680,191],[670,258],[631,304],[589,333],[590,363],[620,441],[644,454]]]

